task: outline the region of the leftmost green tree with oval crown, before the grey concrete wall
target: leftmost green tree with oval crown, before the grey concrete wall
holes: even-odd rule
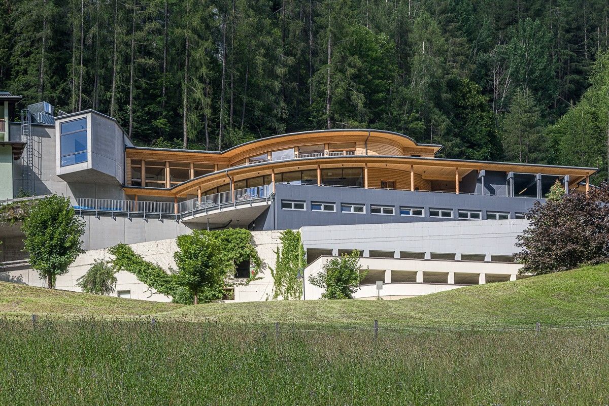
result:
[[[69,265],[84,252],[80,237],[85,222],[76,216],[69,198],[53,194],[33,205],[22,229],[30,265],[53,289],[57,275],[68,272]]]

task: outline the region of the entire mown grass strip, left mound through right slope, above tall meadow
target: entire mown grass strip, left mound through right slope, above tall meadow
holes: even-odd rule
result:
[[[474,285],[398,301],[268,301],[181,306],[0,282],[0,312],[155,315],[159,320],[333,326],[574,326],[609,322],[609,265]]]

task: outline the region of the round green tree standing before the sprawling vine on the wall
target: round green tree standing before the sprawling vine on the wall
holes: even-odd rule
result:
[[[194,304],[221,299],[230,263],[220,252],[216,240],[200,230],[178,236],[179,250],[174,254],[178,272],[178,284],[188,288],[194,296]]]

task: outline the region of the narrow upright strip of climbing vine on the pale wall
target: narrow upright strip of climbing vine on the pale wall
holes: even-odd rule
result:
[[[270,269],[273,277],[273,300],[300,299],[303,292],[298,272],[306,267],[306,253],[300,231],[286,230],[280,236],[281,247],[275,251],[275,268]]]

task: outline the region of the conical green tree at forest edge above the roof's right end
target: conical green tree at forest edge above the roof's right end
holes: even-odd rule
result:
[[[518,89],[509,111],[501,120],[505,159],[510,162],[542,163],[547,154],[541,108],[529,91]]]

